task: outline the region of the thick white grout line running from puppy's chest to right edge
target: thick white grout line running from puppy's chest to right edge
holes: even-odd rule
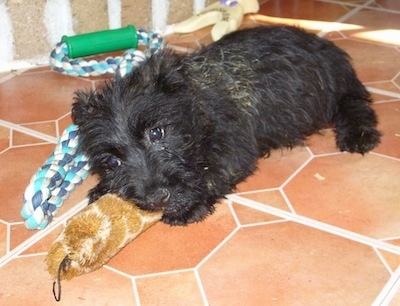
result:
[[[336,235],[336,236],[340,236],[355,242],[359,242],[365,245],[368,245],[370,247],[376,247],[378,249],[382,249],[397,255],[400,255],[400,247],[399,246],[395,246],[392,245],[390,243],[384,242],[384,241],[380,241],[377,239],[373,239],[370,238],[368,236],[362,235],[362,234],[358,234],[356,232],[352,232],[334,225],[330,225],[321,221],[317,221],[308,217],[304,217],[304,216],[300,216],[297,214],[293,214],[287,211],[284,211],[282,209],[279,208],[275,208],[272,206],[268,206],[265,204],[261,204],[258,203],[256,201],[250,200],[250,199],[245,199],[242,197],[239,197],[237,195],[229,195],[228,196],[230,200],[245,205],[247,207],[259,210],[259,211],[263,211],[269,214],[272,214],[274,216],[278,216],[284,219],[288,219],[290,221],[299,223],[299,224],[303,224],[305,226],[308,227],[312,227],[315,229],[319,229],[321,231]]]

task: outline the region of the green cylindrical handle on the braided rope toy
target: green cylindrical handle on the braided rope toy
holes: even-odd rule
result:
[[[133,25],[115,30],[105,30],[75,36],[63,36],[68,46],[68,57],[77,58],[138,46],[137,32]]]

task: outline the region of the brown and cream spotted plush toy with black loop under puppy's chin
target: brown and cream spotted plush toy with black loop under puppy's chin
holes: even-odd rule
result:
[[[116,195],[106,194],[72,217],[45,258],[61,298],[61,280],[99,269],[125,245],[161,219]],[[58,284],[58,294],[55,285]]]

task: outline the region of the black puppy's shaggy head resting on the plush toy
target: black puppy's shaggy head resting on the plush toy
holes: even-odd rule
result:
[[[72,118],[100,182],[91,200],[115,193],[170,224],[212,210],[206,179],[213,124],[181,57],[162,52],[126,77],[77,92]]]

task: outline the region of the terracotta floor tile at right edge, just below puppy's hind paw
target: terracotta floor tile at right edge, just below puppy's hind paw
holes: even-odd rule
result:
[[[344,153],[314,158],[284,191],[300,215],[385,238],[400,235],[399,181],[399,161]]]

